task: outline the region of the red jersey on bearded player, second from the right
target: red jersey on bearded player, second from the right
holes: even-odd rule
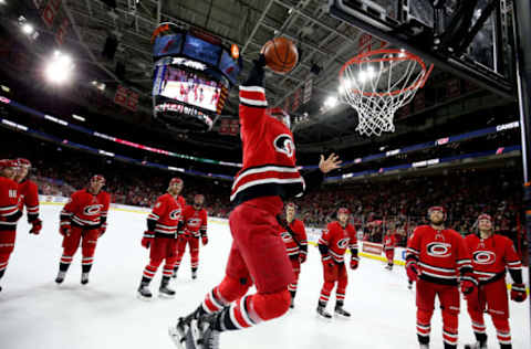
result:
[[[472,268],[465,239],[455,230],[430,225],[415,229],[406,258],[418,261],[420,278],[437,284],[457,285],[459,274]]]

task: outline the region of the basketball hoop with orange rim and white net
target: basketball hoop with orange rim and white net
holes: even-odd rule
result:
[[[395,131],[396,110],[424,86],[434,65],[407,51],[385,49],[364,52],[340,71],[340,96],[357,112],[361,135]]]

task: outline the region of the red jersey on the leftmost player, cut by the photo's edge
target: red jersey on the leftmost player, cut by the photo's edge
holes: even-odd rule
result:
[[[0,177],[0,231],[15,230],[22,212],[19,210],[19,184],[7,177]]]

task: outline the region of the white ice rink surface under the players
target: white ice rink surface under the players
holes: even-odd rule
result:
[[[211,223],[210,243],[200,251],[199,277],[191,281],[189,254],[179,277],[173,281],[175,299],[136,298],[142,272],[148,262],[140,246],[146,214],[113,210],[110,226],[100,240],[91,282],[80,284],[81,251],[65,282],[55,278],[61,256],[58,232],[60,205],[41,205],[44,228],[39,236],[28,234],[25,215],[19,223],[17,245],[4,278],[0,282],[1,349],[102,349],[168,348],[168,324],[192,310],[207,290],[223,276],[231,242],[227,224]],[[157,294],[160,268],[152,282]],[[315,316],[322,273],[319,252],[310,247],[303,264],[295,309],[280,319],[254,328],[226,332],[221,348],[418,348],[415,334],[415,294],[406,288],[405,272],[396,266],[384,269],[382,262],[362,258],[360,268],[348,272],[345,309],[350,320],[324,322]],[[332,297],[329,308],[335,299]],[[513,348],[529,349],[529,300],[510,303]],[[441,349],[440,311],[431,321],[431,348]],[[487,318],[489,348],[499,348],[492,324]],[[470,320],[461,303],[459,342],[473,339]]]

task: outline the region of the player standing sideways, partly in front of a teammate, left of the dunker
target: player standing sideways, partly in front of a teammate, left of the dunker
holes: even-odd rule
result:
[[[147,216],[147,231],[142,237],[142,245],[149,248],[149,264],[144,268],[140,286],[138,286],[140,298],[150,299],[153,297],[149,283],[163,261],[166,263],[158,293],[162,297],[175,296],[175,290],[170,289],[168,284],[177,258],[177,232],[183,225],[183,205],[178,200],[183,180],[173,178],[169,181],[167,193],[158,197],[152,213]]]

